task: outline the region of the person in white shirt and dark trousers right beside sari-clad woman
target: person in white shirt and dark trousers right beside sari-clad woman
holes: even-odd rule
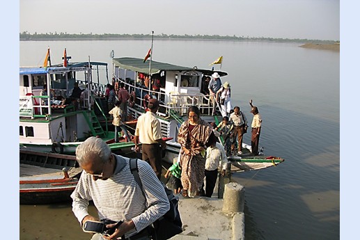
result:
[[[210,135],[210,138],[214,138]],[[217,182],[217,174],[220,173],[223,177],[225,175],[226,157],[225,149],[221,143],[217,143],[216,139],[211,141],[211,145],[206,149],[205,161],[205,183],[201,187],[201,195],[211,198],[214,193],[215,184]],[[205,186],[205,191],[204,191]]]

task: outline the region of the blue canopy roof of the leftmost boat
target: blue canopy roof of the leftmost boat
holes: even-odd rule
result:
[[[107,63],[101,62],[90,62],[90,65],[102,65],[107,66]],[[63,67],[63,64],[52,65],[51,67],[20,67],[20,75],[24,74],[47,74],[48,72],[68,72],[75,70],[74,67],[88,67],[88,62],[79,62],[79,63],[68,63],[68,67]],[[78,70],[79,71],[79,70]]]

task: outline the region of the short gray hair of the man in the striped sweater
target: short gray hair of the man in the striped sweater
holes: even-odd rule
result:
[[[109,161],[110,156],[110,147],[101,138],[95,138],[95,136],[86,139],[84,143],[77,146],[76,150],[76,159],[80,166],[95,157],[106,162]]]

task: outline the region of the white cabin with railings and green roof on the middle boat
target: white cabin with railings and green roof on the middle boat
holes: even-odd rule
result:
[[[146,108],[148,97],[157,98],[159,115],[179,113],[184,115],[189,106],[196,105],[202,113],[212,113],[210,96],[201,91],[206,76],[214,71],[198,67],[182,67],[169,63],[146,61],[141,58],[113,58],[114,78],[125,83],[137,101],[134,105]],[[216,71],[220,76],[226,72]]]

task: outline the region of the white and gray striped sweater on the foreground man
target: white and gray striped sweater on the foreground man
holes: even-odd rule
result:
[[[94,181],[83,173],[75,191],[71,194],[72,211],[81,223],[88,215],[88,202],[93,200],[99,218],[112,221],[132,219],[135,230],[127,232],[130,237],[153,223],[169,210],[169,200],[154,170],[146,161],[138,160],[138,168],[146,199],[130,171],[129,159],[115,155],[116,169],[107,180]]]

